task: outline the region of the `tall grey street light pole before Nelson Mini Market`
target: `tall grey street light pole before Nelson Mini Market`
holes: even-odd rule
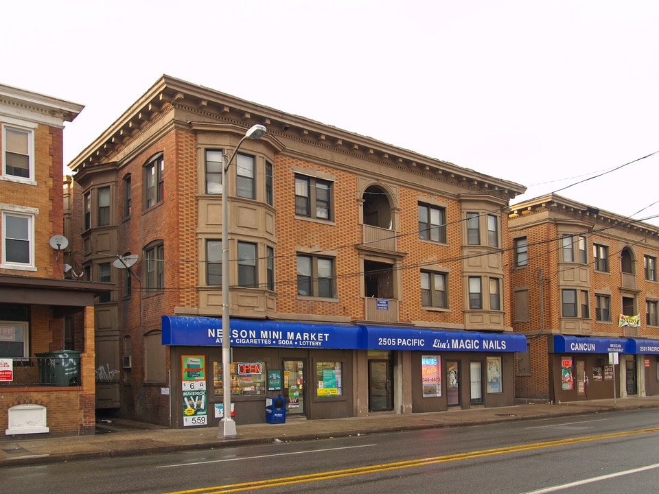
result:
[[[229,322],[229,187],[227,187],[227,170],[238,153],[245,139],[261,139],[266,133],[262,125],[251,126],[240,139],[227,160],[227,154],[222,153],[222,423],[218,437],[224,439],[237,438],[235,422],[231,418],[231,329]]]

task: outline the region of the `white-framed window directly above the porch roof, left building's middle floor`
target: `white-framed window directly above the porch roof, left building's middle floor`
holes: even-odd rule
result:
[[[34,216],[3,211],[2,267],[34,268]]]

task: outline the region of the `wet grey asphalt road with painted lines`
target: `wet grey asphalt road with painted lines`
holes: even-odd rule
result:
[[[4,492],[656,492],[656,409],[13,467]]]

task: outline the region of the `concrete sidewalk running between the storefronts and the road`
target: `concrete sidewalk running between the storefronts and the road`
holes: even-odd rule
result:
[[[520,419],[659,408],[659,396],[626,397],[560,404],[527,404],[502,408],[473,408],[423,414],[376,413],[365,417],[308,421],[287,419],[281,424],[237,425],[237,439],[218,438],[218,427],[168,429],[113,419],[100,422],[93,436],[4,436],[0,438],[0,467],[71,460],[137,456],[192,449],[211,449],[277,441],[300,441],[377,432],[460,427]]]

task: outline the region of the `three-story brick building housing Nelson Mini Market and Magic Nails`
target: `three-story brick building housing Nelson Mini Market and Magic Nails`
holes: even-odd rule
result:
[[[218,423],[225,186],[237,423],[279,394],[310,419],[513,403],[521,185],[167,75],[69,166],[86,279],[117,287],[98,408]]]

